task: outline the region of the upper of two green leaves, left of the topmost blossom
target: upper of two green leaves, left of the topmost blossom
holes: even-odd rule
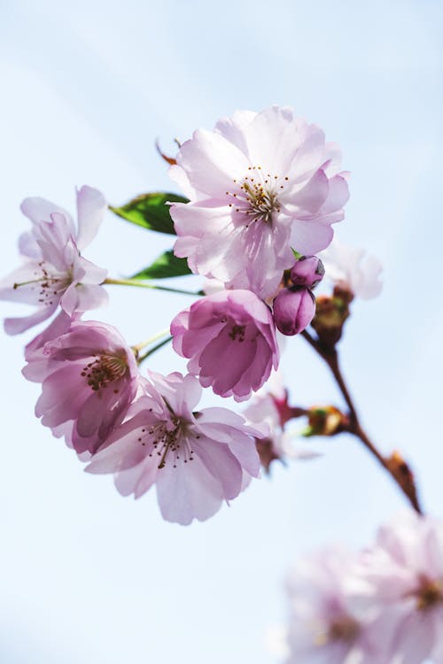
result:
[[[119,217],[130,221],[137,226],[143,226],[149,230],[156,230],[159,233],[168,233],[175,235],[174,224],[169,214],[169,205],[171,203],[188,203],[188,199],[176,194],[167,192],[155,192],[152,194],[142,194],[121,207],[109,206]]]

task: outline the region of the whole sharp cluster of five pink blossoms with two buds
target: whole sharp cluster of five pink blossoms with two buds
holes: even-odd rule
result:
[[[23,265],[0,282],[0,299],[34,307],[5,320],[9,334],[50,320],[27,344],[23,369],[42,386],[35,414],[43,425],[89,473],[113,474],[118,490],[136,498],[155,484],[163,516],[189,523],[259,475],[261,439],[279,441],[274,452],[283,452],[284,421],[278,432],[253,406],[245,416],[196,407],[202,388],[250,398],[278,367],[277,330],[296,335],[313,320],[312,289],[325,272],[315,252],[330,245],[348,188],[337,145],[288,108],[236,112],[212,132],[196,131],[173,161],[171,177],[189,197],[170,204],[175,256],[219,284],[171,322],[189,374],[142,375],[136,346],[105,322],[83,320],[107,302],[107,270],[82,255],[107,208],[97,189],[77,191],[77,223],[43,198],[23,202],[32,228],[19,239]],[[361,288],[364,275],[356,282],[338,273]]]

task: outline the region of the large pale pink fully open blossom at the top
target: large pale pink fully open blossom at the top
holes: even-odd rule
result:
[[[344,217],[338,148],[291,109],[239,111],[198,129],[176,161],[171,175],[190,203],[171,206],[175,255],[230,288],[274,295],[291,247],[324,249]]]

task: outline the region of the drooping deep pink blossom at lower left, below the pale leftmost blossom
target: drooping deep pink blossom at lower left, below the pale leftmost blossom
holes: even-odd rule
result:
[[[133,351],[115,328],[94,320],[74,321],[66,334],[30,351],[23,374],[42,382],[36,416],[79,453],[105,444],[139,384]]]

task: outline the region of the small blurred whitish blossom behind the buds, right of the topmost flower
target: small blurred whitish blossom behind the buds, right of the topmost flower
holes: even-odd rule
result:
[[[383,266],[374,256],[365,256],[363,249],[334,240],[320,254],[326,277],[343,290],[350,290],[361,299],[376,297],[383,288],[379,279]]]

